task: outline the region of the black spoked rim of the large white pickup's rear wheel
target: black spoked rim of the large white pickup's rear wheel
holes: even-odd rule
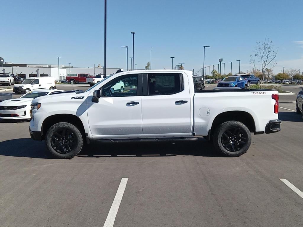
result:
[[[247,136],[246,133],[238,127],[229,128],[222,134],[221,143],[225,150],[237,152],[247,143]]]

